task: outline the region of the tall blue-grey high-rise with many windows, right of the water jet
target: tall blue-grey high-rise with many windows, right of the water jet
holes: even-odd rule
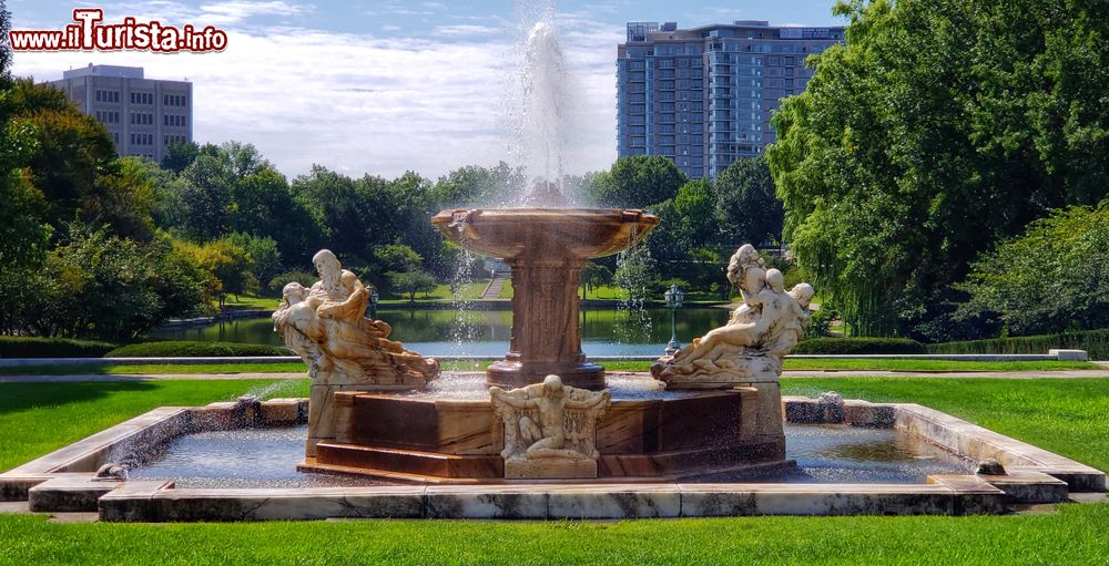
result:
[[[714,178],[774,142],[771,111],[805,89],[805,58],[843,28],[736,21],[689,30],[629,22],[617,49],[617,153],[664,155],[691,178]]]

